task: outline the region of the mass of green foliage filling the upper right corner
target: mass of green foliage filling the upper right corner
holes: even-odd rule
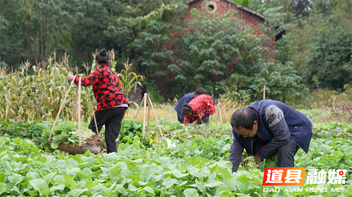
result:
[[[352,81],[352,3],[309,4],[309,15],[289,22],[290,33],[277,45],[278,60],[292,61],[309,87],[341,90]]]

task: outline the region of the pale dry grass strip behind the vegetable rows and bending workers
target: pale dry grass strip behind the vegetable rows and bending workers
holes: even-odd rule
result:
[[[177,113],[173,109],[177,102],[178,99],[174,98],[172,101],[169,100],[169,102],[163,104],[153,103],[157,118],[164,118],[170,122],[177,122]],[[210,116],[210,122],[221,123],[222,119],[223,124],[229,124],[231,115],[235,110],[248,105],[248,103],[233,101],[230,98],[217,99],[216,103],[216,113]],[[313,123],[345,122],[352,124],[352,88],[340,94],[336,94],[335,91],[328,89],[314,90],[306,97],[304,105],[298,105],[292,101],[286,101],[285,103],[307,115]],[[128,113],[125,115],[125,119],[134,120],[136,117],[137,121],[143,121],[143,106],[141,106],[137,114],[137,107],[140,104],[141,103],[136,103],[137,106],[131,105]],[[221,116],[219,114],[220,110]],[[146,109],[146,121],[147,118],[148,103]],[[155,121],[155,115],[152,108],[150,108],[149,118],[150,122]]]

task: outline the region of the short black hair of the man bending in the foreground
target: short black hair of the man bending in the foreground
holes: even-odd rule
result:
[[[254,121],[256,120],[255,111],[251,108],[242,108],[233,112],[231,117],[231,126],[238,128],[242,126],[245,129],[252,130]]]

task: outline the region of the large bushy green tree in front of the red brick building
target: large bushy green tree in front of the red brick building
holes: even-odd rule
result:
[[[267,36],[252,35],[250,27],[238,28],[241,26],[236,25],[239,22],[233,13],[205,16],[196,9],[191,13],[193,20],[186,24],[187,31],[175,39],[174,55],[179,57],[178,61],[168,66],[175,75],[169,86],[180,87],[172,95],[194,87],[222,93],[230,87],[232,73],[242,79],[236,88],[246,89],[241,84],[254,73],[260,73],[265,62]]]

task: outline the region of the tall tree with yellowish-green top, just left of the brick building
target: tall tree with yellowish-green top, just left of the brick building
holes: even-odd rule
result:
[[[180,28],[178,22],[187,5],[183,0],[132,2],[126,5],[125,15],[114,18],[105,34],[116,39],[110,46],[116,49],[117,61],[130,58],[136,65],[136,73],[145,77],[144,91],[163,100],[160,93],[166,95],[170,88],[160,81],[165,81],[165,68],[173,54],[172,49],[164,46],[171,42],[172,30]]]

